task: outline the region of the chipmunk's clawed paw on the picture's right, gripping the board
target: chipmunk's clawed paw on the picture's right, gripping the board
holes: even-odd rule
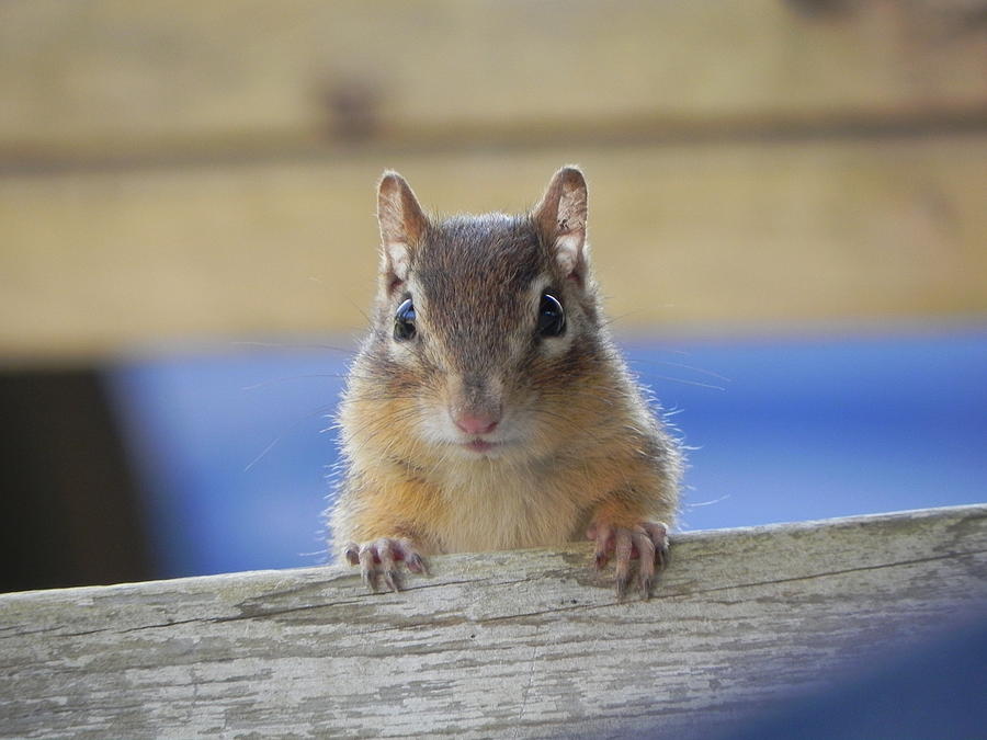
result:
[[[591,524],[586,536],[597,543],[597,568],[616,559],[614,584],[623,600],[631,583],[631,560],[637,558],[637,588],[642,599],[649,599],[655,573],[668,562],[668,527],[661,522],[642,522],[633,527]]]

